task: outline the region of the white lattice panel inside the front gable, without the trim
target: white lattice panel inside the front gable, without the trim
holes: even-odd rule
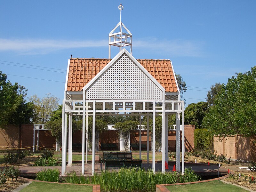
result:
[[[162,100],[162,91],[123,54],[86,92],[87,99]]]

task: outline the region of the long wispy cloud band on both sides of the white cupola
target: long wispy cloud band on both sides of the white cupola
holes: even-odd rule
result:
[[[0,51],[14,51],[18,54],[47,54],[52,51],[108,46],[107,40],[51,40],[51,39],[3,39],[0,38]],[[171,56],[202,56],[202,42],[188,40],[159,40],[156,38],[137,39],[134,47],[149,53],[170,54]]]

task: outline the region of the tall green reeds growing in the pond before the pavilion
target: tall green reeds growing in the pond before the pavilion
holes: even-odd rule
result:
[[[146,171],[144,168],[121,168],[117,171],[102,171],[101,174],[95,173],[94,176],[77,176],[75,172],[68,175],[64,182],[78,184],[98,184],[104,191],[109,190],[143,190],[155,189],[156,184],[171,184],[180,181],[195,181],[200,178],[191,169],[186,169],[187,175],[180,175],[176,172],[157,172]]]

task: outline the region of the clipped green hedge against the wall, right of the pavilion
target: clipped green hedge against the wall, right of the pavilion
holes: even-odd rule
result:
[[[198,150],[211,150],[213,135],[207,129],[196,129],[194,132],[194,145]]]

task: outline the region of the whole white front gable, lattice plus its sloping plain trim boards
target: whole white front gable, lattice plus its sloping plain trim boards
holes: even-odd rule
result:
[[[125,67],[124,67],[125,65]],[[87,99],[162,100],[164,87],[125,49],[83,88]],[[112,95],[109,92],[113,92]]]

